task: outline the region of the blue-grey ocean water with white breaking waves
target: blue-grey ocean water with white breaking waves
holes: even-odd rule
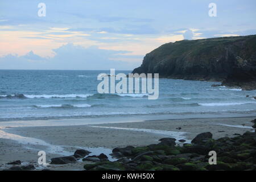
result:
[[[147,94],[97,93],[100,73],[110,71],[0,70],[0,121],[166,114],[256,116],[252,97],[256,90],[160,78],[158,100],[148,100]]]

